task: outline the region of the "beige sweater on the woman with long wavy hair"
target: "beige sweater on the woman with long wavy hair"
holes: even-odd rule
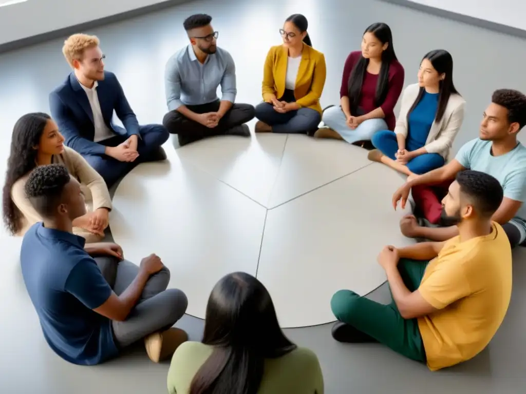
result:
[[[80,182],[88,211],[98,208],[112,209],[112,200],[104,179],[80,154],[73,149],[64,147],[64,153],[53,156],[53,163],[63,164],[69,171],[69,174]],[[42,217],[35,211],[33,205],[26,197],[24,188],[28,178],[29,174],[24,175],[24,177],[13,184],[11,189],[11,198],[23,215],[21,230],[17,235],[24,235],[29,227],[42,221]],[[80,227],[73,227],[73,233],[85,238],[86,243],[99,242],[101,240],[100,236]]]

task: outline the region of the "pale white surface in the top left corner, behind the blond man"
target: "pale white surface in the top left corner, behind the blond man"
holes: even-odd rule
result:
[[[166,0],[27,0],[0,7],[0,45]]]

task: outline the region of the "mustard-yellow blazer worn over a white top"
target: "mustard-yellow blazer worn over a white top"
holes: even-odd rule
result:
[[[288,49],[283,45],[271,47],[268,51],[263,71],[264,101],[270,101],[272,96],[276,96],[278,99],[283,96],[288,55]],[[296,102],[300,107],[311,108],[321,113],[320,96],[326,76],[325,56],[304,44],[298,76],[296,77],[296,88],[294,89],[294,97],[296,97]]]

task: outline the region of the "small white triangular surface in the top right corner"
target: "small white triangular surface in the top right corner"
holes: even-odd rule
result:
[[[445,11],[526,30],[524,0],[410,0]]]

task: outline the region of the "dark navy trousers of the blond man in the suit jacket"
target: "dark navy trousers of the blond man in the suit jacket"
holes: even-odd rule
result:
[[[88,154],[84,156],[89,165],[104,178],[108,188],[124,177],[138,163],[155,160],[160,146],[166,142],[170,135],[163,125],[139,126],[139,133],[140,138],[137,144],[139,157],[134,162],[118,161],[106,154]],[[115,136],[99,141],[99,143],[107,147],[116,147],[127,139],[128,136]]]

